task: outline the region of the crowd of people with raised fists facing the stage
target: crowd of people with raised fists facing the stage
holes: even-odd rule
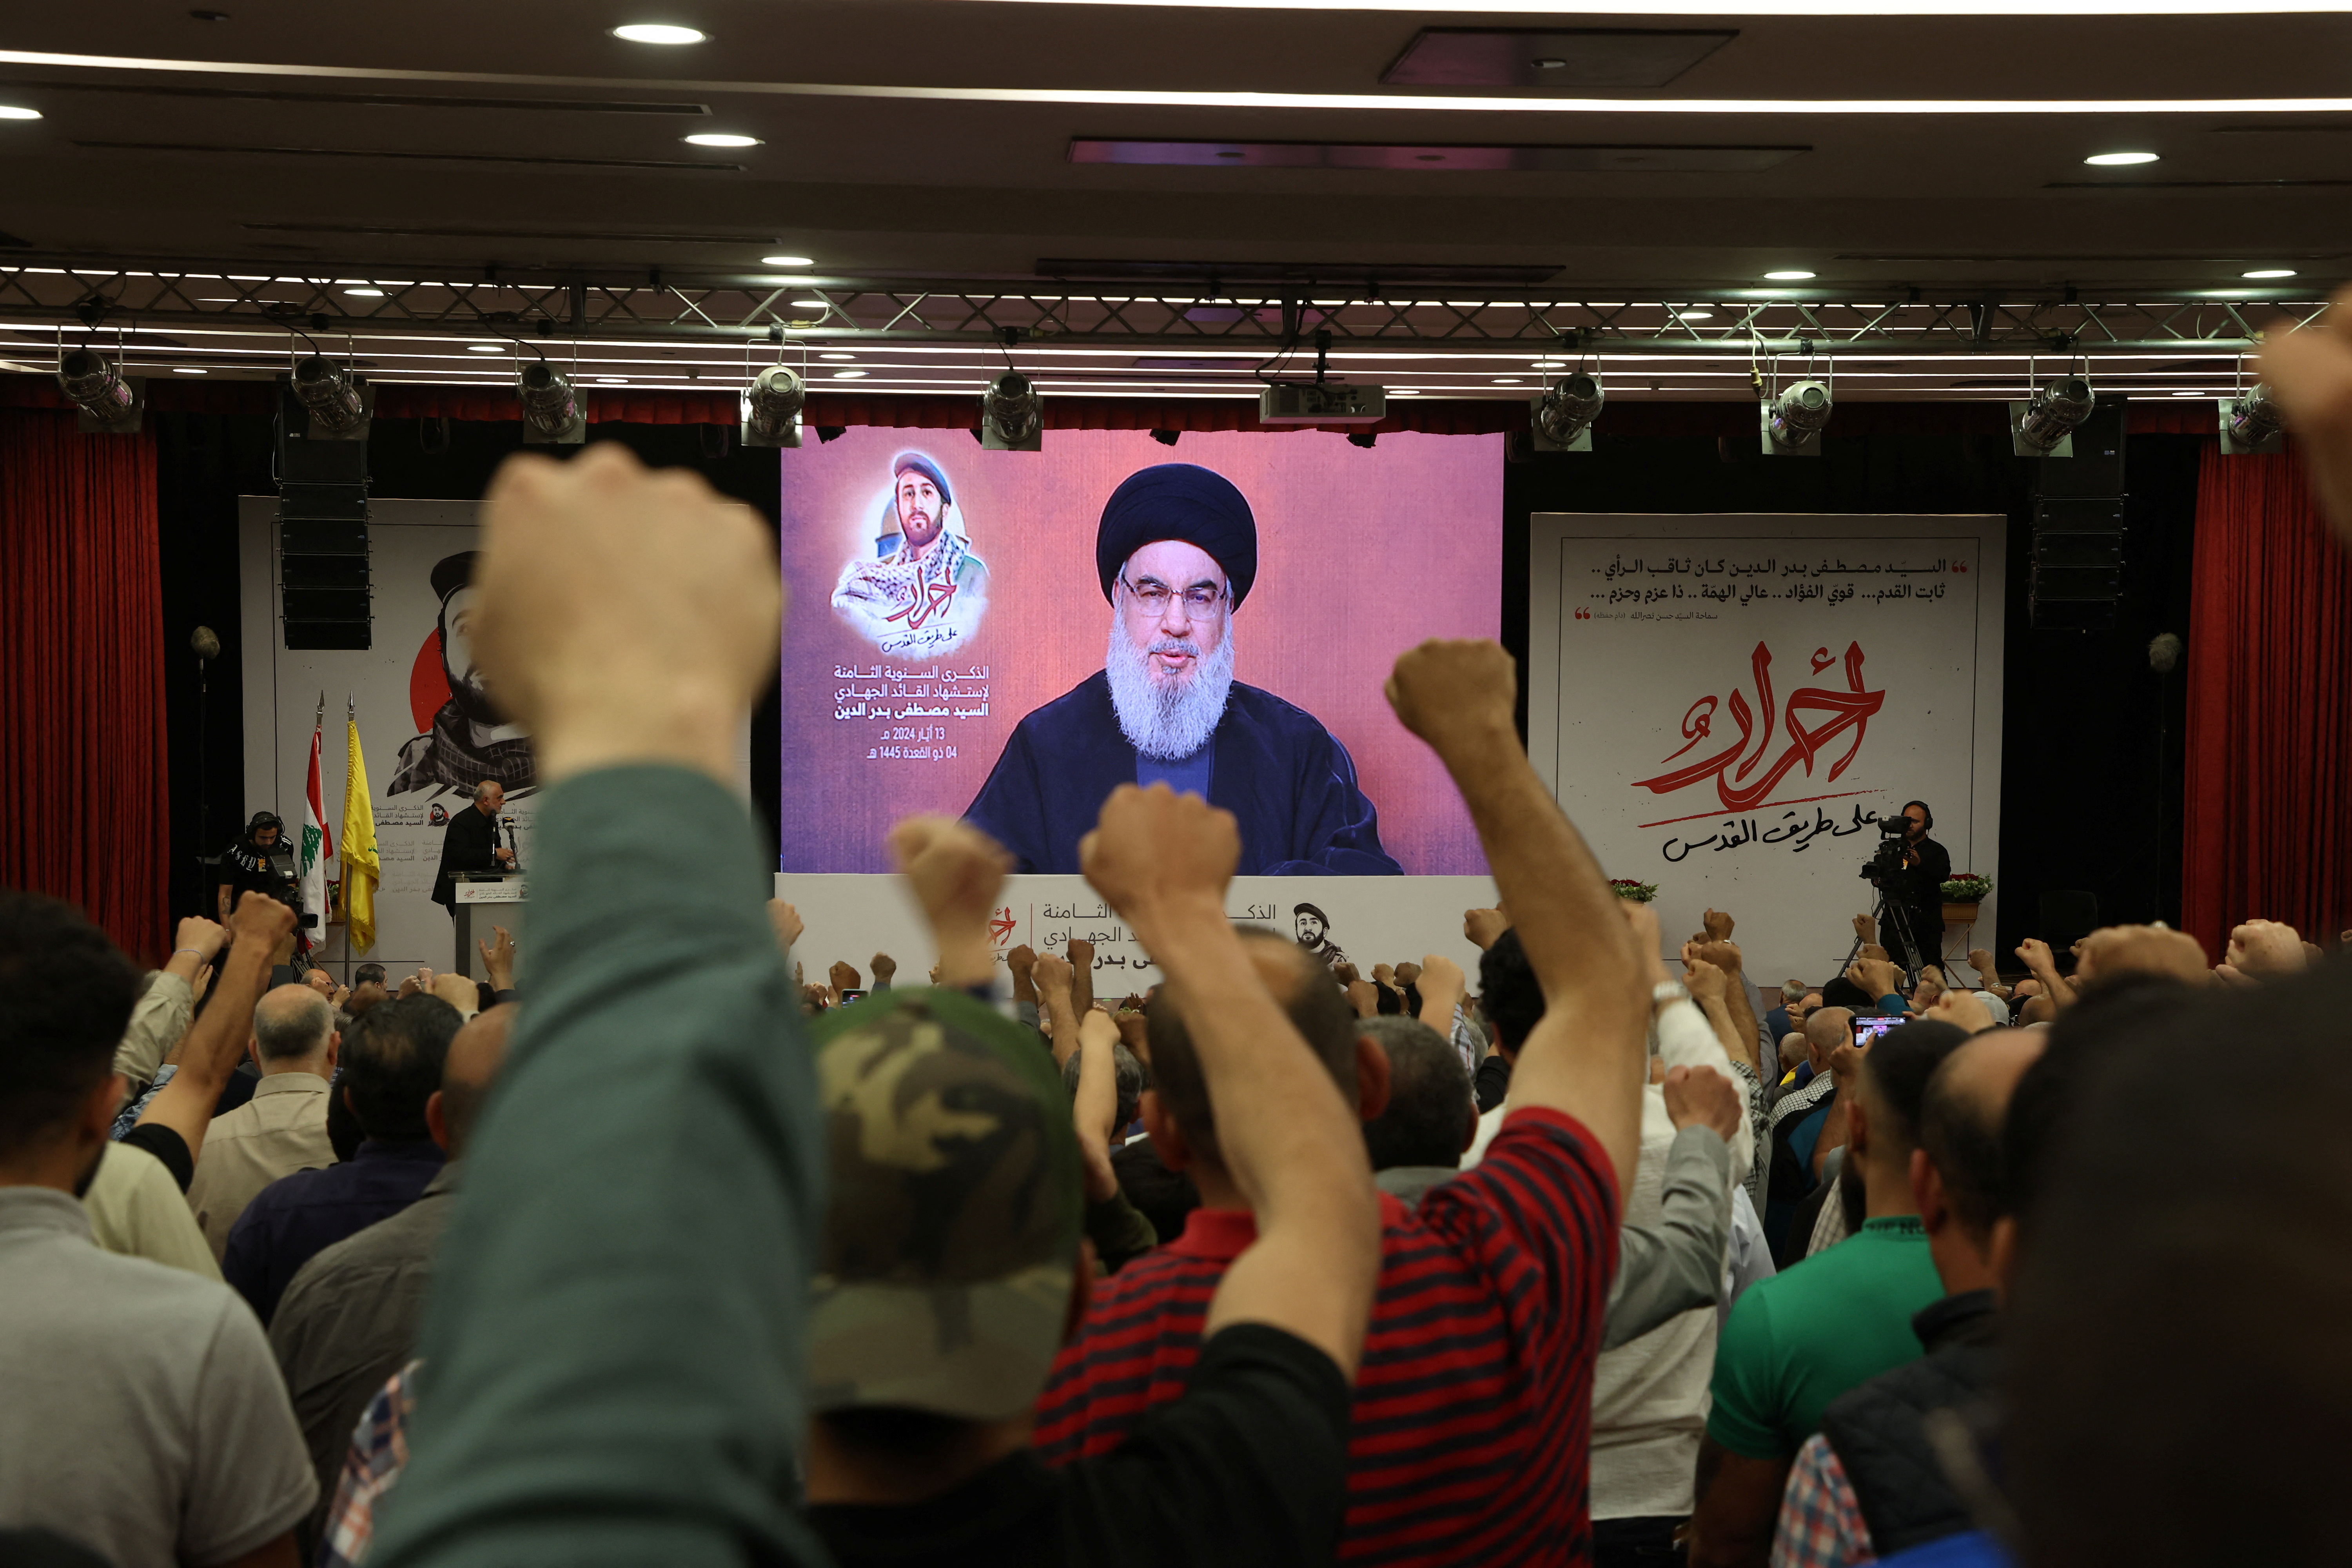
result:
[[[2298,339],[2347,503],[2352,348]],[[489,983],[287,969],[259,891],[141,976],[0,893],[0,1563],[2340,1549],[2352,971],[2293,929],[1964,985],[1858,917],[1766,990],[1602,877],[1510,656],[1432,642],[1388,698],[1494,867],[1475,973],[1237,926],[1232,818],[1157,785],[1082,846],[1155,990],[1000,954],[1009,856],[938,818],[891,835],[929,983],[809,983],[724,783],[760,527],[590,449],[485,538],[524,990],[503,933]]]

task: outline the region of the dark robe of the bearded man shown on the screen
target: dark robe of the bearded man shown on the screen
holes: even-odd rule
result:
[[[1355,759],[1322,722],[1272,691],[1232,684],[1209,741],[1209,804],[1242,825],[1242,877],[1397,877]],[[1075,872],[1103,802],[1136,783],[1110,677],[1096,670],[1014,729],[964,818],[1021,872]]]

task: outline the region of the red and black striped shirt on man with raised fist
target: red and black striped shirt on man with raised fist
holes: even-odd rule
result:
[[[1385,1244],[1348,1448],[1348,1563],[1588,1563],[1592,1359],[1616,1272],[1618,1192],[1578,1121],[1517,1110],[1486,1159]],[[1047,1465],[1117,1448],[1183,1394],[1225,1265],[1256,1239],[1237,1208],[1101,1281],[1037,1401]]]

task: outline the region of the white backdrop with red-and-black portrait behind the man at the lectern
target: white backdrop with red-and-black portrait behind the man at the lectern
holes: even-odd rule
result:
[[[376,959],[400,973],[430,964],[447,969],[454,954],[449,917],[433,903],[433,872],[440,865],[442,830],[452,811],[466,809],[473,785],[426,778],[440,757],[449,776],[477,771],[480,755],[496,755],[501,741],[520,741],[513,726],[475,726],[447,715],[449,682],[440,656],[442,595],[435,590],[435,567],[477,543],[475,501],[374,501],[369,517],[369,552],[374,571],[374,646],[367,651],[287,649],[280,635],[278,604],[278,498],[242,496],[238,510],[240,597],[245,630],[245,811],[275,811],[289,827],[301,827],[303,773],[310,764],[310,722],[318,698],[327,696],[327,729],[320,750],[320,792],[336,846],[343,842],[343,703],[358,705],[360,745],[367,755],[367,783],[374,797],[376,844],[383,882],[376,889],[376,945],[365,954],[346,950],[343,929],[334,926],[325,959],[334,973],[350,964]],[[454,569],[452,569],[454,571]],[[442,574],[442,583],[452,581]],[[463,609],[452,599],[452,618]],[[456,656],[463,670],[463,654]],[[440,715],[440,722],[435,722]],[[426,741],[433,733],[435,741]],[[480,755],[452,757],[449,741],[463,736]],[[402,778],[402,748],[421,762]],[[750,792],[750,729],[739,741],[739,790]],[[409,785],[393,790],[393,785]],[[524,872],[532,865],[532,816],[539,795],[532,788],[508,788],[506,811],[515,818],[515,844]],[[242,827],[245,818],[235,823]],[[233,832],[233,827],[228,830]],[[221,835],[221,844],[228,842]],[[214,844],[212,849],[221,849]],[[341,863],[327,865],[341,877]],[[529,966],[529,940],[520,943],[520,961]]]

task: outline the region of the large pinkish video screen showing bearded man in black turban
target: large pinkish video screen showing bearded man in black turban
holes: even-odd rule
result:
[[[894,430],[781,454],[779,870],[884,872],[889,825],[927,811],[1021,872],[1077,872],[1103,799],[1167,783],[1235,813],[1242,875],[1484,872],[1381,686],[1428,637],[1501,630],[1503,437],[1181,440],[1169,461],[1141,430],[1051,430],[953,473]],[[884,465],[913,496],[889,541]],[[985,569],[962,515],[990,520]],[[969,576],[985,621],[877,635],[906,597],[891,574],[950,616]]]

